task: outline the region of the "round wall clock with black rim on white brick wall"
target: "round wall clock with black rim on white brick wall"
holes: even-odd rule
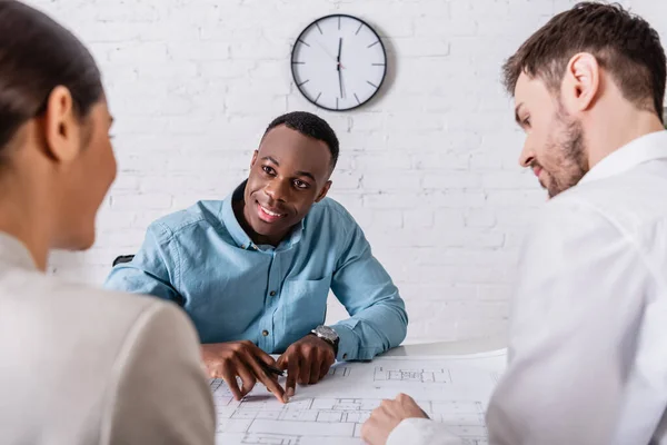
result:
[[[309,101],[327,110],[350,110],[380,89],[387,55],[377,32],[362,20],[327,16],[301,32],[291,69],[297,88]]]

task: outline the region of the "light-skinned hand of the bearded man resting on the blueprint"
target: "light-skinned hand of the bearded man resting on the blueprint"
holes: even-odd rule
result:
[[[369,445],[385,445],[394,428],[410,417],[428,418],[410,396],[399,394],[395,400],[382,400],[361,427],[361,438]]]

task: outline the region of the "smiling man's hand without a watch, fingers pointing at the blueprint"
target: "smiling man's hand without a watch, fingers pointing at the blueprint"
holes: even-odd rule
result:
[[[237,400],[250,393],[259,380],[279,402],[287,402],[285,390],[278,383],[278,376],[266,372],[260,364],[263,362],[269,366],[276,366],[276,360],[253,343],[243,340],[201,345],[201,356],[209,376],[222,378]],[[242,382],[240,388],[237,376]]]

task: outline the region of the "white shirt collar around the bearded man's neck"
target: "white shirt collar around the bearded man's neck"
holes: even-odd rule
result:
[[[579,184],[608,178],[654,159],[667,158],[667,130],[650,132],[631,140],[596,164]]]

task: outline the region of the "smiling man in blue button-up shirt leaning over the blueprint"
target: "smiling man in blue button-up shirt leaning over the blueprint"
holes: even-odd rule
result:
[[[225,200],[153,222],[106,286],[180,305],[199,332],[209,375],[237,398],[259,380],[286,400],[297,382],[319,382],[336,358],[370,359],[398,346],[408,324],[398,289],[355,219],[326,198],[337,159],[338,139],[322,119],[277,118],[247,181]],[[334,326],[323,325],[329,289],[351,316]],[[288,372],[286,394],[271,366]]]

